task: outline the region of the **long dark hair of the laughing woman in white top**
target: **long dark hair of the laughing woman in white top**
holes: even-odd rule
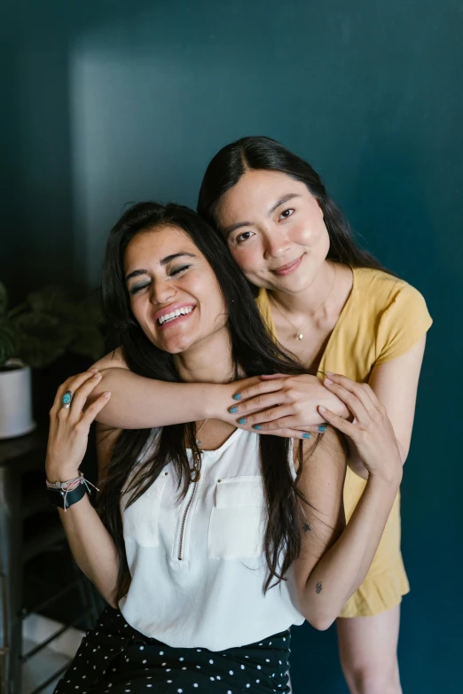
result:
[[[122,347],[129,369],[147,378],[180,380],[173,356],[155,347],[137,324],[124,280],[124,254],[129,241],[140,232],[155,230],[161,225],[183,230],[213,269],[227,311],[236,373],[244,373],[247,377],[264,373],[308,373],[292,355],[279,347],[267,331],[246,278],[216,231],[186,207],[162,206],[154,202],[139,203],[125,212],[111,230],[106,245],[103,304],[107,323],[114,329],[114,346]],[[150,434],[148,429],[127,430],[120,434],[98,500],[98,511],[114,539],[119,557],[118,597],[124,594],[128,574],[120,511],[122,492],[131,492],[129,503],[134,503],[171,462],[177,472],[178,488],[185,495],[190,484],[187,448],[200,456],[192,422],[162,427],[157,444],[145,456]],[[301,441],[298,443],[298,476],[294,480],[289,440],[277,436],[259,438],[267,505],[264,551],[269,571],[264,590],[271,587],[272,581],[278,583],[285,578],[301,548],[301,503],[307,502],[296,487],[302,473],[300,444]],[[142,454],[137,475],[129,481],[129,474]]]

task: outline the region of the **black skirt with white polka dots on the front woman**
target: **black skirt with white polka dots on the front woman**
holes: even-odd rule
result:
[[[289,631],[226,651],[171,648],[106,607],[54,694],[236,694],[289,691]]]

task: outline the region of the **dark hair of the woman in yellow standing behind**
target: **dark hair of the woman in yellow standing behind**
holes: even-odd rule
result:
[[[330,238],[328,260],[353,268],[384,270],[380,261],[357,246],[349,223],[328,195],[317,171],[271,137],[241,137],[223,147],[210,161],[200,187],[198,213],[211,226],[218,229],[220,200],[248,170],[279,171],[306,185],[323,212]]]

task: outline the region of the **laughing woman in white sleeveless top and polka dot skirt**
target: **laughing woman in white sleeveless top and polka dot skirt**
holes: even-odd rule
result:
[[[129,368],[160,382],[303,374],[271,338],[222,240],[184,207],[143,203],[112,230],[106,315]],[[113,434],[98,512],[78,468],[101,380],[59,388],[46,472],[78,565],[109,606],[57,692],[287,690],[288,629],[327,628],[357,589],[402,478],[369,386],[333,377],[355,422],[324,408],[369,472],[349,526],[346,456],[329,428],[294,443],[219,420]]]

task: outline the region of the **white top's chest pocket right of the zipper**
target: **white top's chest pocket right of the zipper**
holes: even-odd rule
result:
[[[208,557],[259,557],[263,553],[265,510],[260,475],[218,481],[209,523]]]

